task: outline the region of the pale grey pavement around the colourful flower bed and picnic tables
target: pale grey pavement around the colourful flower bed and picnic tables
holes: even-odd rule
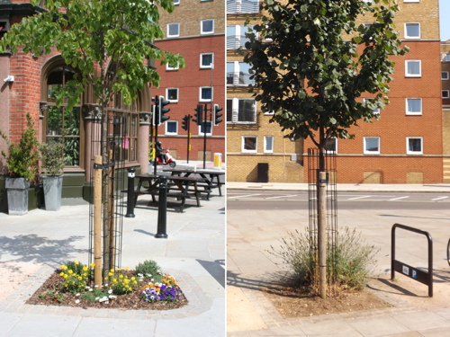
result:
[[[187,306],[149,311],[25,304],[60,264],[87,262],[89,205],[63,200],[58,211],[0,213],[0,275],[18,282],[0,296],[0,336],[224,336],[225,198],[215,189],[200,208],[194,200],[186,200],[183,213],[169,205],[166,239],[154,237],[157,206],[148,206],[150,199],[139,197],[135,217],[123,218],[121,266],[156,261],[177,279]]]

